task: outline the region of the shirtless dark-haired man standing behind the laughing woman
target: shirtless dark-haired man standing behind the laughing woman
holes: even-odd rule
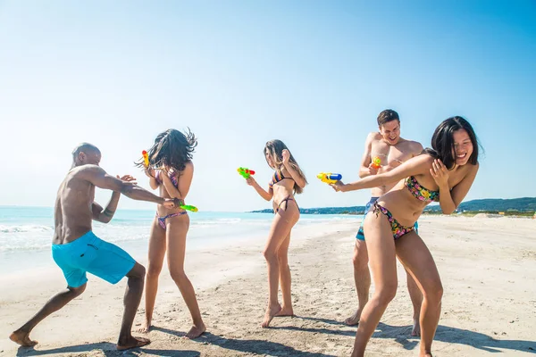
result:
[[[373,132],[368,135],[364,143],[364,154],[361,159],[359,177],[364,178],[369,175],[386,172],[396,168],[402,162],[406,162],[414,156],[421,154],[423,145],[416,141],[406,140],[400,137],[400,119],[398,112],[387,109],[378,115],[379,132]],[[381,167],[376,169],[373,159],[380,159]],[[373,203],[381,195],[388,192],[391,186],[374,187],[371,190],[371,200],[366,203],[364,216],[369,211]],[[363,216],[363,218],[364,218]],[[415,222],[415,229],[417,223]],[[369,299],[369,289],[371,287],[371,273],[368,268],[368,253],[364,242],[363,222],[356,235],[356,246],[354,247],[354,279],[356,281],[357,299],[359,307],[357,311],[344,322],[348,326],[357,325],[363,311],[364,304]],[[419,315],[423,296],[415,280],[407,274],[407,289],[414,306],[414,325],[411,332],[412,336],[420,335]]]

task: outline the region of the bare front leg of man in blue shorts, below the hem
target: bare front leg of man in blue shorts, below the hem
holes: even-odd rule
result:
[[[127,273],[129,280],[127,281],[127,288],[125,289],[125,296],[123,298],[124,311],[119,340],[117,341],[118,350],[128,350],[150,343],[147,338],[132,336],[131,332],[132,323],[134,322],[134,317],[136,317],[136,311],[138,311],[141,295],[143,294],[145,272],[144,266],[137,262]]]

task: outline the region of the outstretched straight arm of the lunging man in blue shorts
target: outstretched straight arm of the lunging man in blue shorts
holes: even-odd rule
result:
[[[165,202],[162,197],[153,195],[146,189],[138,187],[136,184],[121,181],[121,179],[108,175],[105,170],[96,165],[86,165],[83,170],[80,170],[80,175],[83,179],[87,179],[96,187],[121,192],[121,194],[126,195],[133,200],[158,204],[163,204]]]

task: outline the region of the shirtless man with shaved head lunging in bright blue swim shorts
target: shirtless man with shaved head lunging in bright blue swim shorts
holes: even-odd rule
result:
[[[72,152],[72,167],[58,190],[54,208],[54,238],[52,256],[63,270],[67,288],[54,295],[38,313],[10,336],[24,346],[37,345],[29,333],[41,320],[58,311],[86,289],[86,272],[116,284],[127,277],[124,311],[118,350],[149,344],[147,338],[131,335],[132,322],[143,292],[146,270],[120,247],[96,237],[91,230],[92,220],[108,223],[113,218],[121,194],[135,200],[163,204],[173,208],[178,202],[163,199],[138,187],[129,175],[116,179],[98,166],[101,160],[96,146],[83,143]],[[105,209],[94,202],[95,187],[113,190]],[[69,327],[66,326],[66,329]]]

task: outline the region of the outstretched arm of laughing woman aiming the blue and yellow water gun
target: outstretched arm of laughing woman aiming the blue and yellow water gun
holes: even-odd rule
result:
[[[401,179],[406,179],[409,176],[420,175],[428,172],[433,162],[433,158],[430,155],[419,155],[415,158],[404,162],[397,168],[383,172],[377,175],[367,176],[364,179],[353,182],[351,184],[343,184],[338,181],[331,186],[339,188],[340,191],[355,191],[364,188],[372,188],[379,186],[387,186],[389,184],[397,183]]]

